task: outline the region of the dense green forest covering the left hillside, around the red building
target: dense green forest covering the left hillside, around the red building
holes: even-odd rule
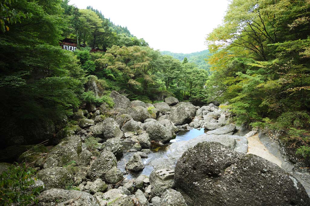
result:
[[[111,105],[111,90],[145,103],[170,95],[206,101],[206,70],[161,55],[91,6],[5,0],[1,30],[2,146],[37,143],[39,132],[55,136],[86,103]],[[64,38],[75,40],[78,49],[61,48]],[[88,90],[90,80],[99,85],[99,95]]]

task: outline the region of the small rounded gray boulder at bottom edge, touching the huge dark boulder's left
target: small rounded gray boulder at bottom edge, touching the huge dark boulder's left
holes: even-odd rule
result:
[[[180,192],[168,189],[162,194],[161,206],[187,206]]]

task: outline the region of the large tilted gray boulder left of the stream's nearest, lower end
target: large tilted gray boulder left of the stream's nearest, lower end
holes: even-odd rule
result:
[[[105,174],[108,170],[116,166],[117,163],[114,154],[110,151],[104,150],[88,168],[87,176],[91,180],[96,180],[97,178],[105,180]]]

